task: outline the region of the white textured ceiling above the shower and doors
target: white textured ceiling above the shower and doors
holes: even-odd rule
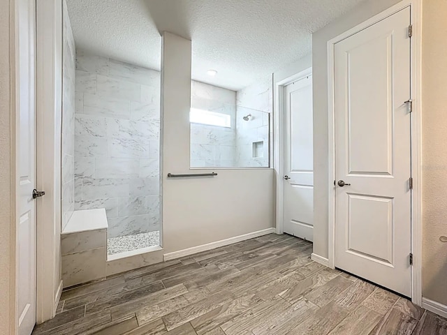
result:
[[[228,89],[309,54],[312,32],[362,1],[66,0],[78,48],[159,70],[170,31],[192,40],[193,79]]]

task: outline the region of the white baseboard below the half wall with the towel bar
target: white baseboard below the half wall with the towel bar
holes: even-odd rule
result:
[[[258,230],[257,232],[249,232],[248,234],[243,234],[235,237],[230,237],[229,239],[222,239],[221,241],[215,241],[201,246],[193,246],[192,248],[187,248],[179,251],[174,251],[173,253],[165,253],[164,260],[175,260],[176,258],[182,258],[185,256],[193,255],[194,253],[200,253],[202,251],[208,251],[219,246],[228,246],[229,244],[245,241],[247,239],[254,239],[267,234],[274,234],[276,232],[275,228],[268,228],[264,230]]]

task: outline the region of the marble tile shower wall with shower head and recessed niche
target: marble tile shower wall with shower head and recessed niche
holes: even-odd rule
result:
[[[238,167],[268,167],[272,145],[272,77],[251,84],[236,94],[236,156]],[[243,117],[251,114],[249,121]],[[259,145],[261,149],[255,149]]]

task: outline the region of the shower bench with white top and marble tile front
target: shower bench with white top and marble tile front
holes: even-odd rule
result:
[[[105,278],[107,228],[105,209],[73,211],[61,232],[64,288]]]

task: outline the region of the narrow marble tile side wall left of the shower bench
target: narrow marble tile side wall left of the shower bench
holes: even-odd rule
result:
[[[64,27],[63,27],[63,87],[62,87],[62,230],[75,209],[75,40],[71,31],[70,18],[64,1]]]

